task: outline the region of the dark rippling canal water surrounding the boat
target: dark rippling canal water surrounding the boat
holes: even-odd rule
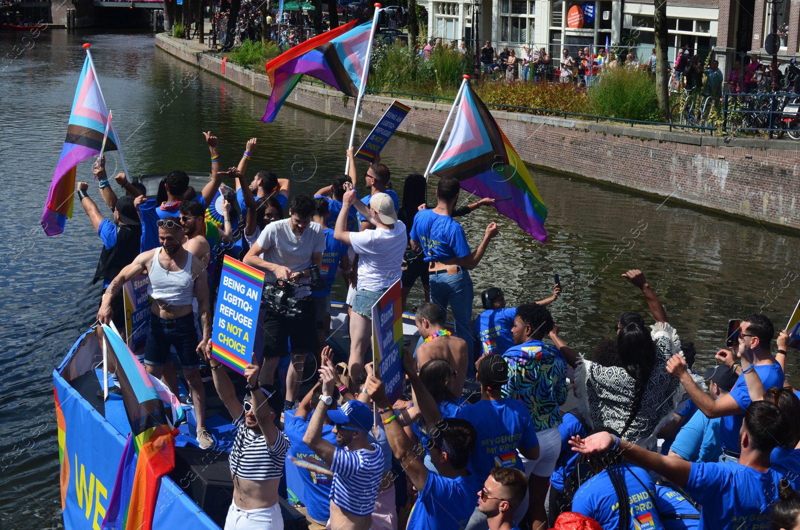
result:
[[[293,192],[314,192],[342,171],[349,134],[343,120],[290,106],[276,122],[262,123],[265,98],[157,50],[150,34],[0,33],[0,202],[6,227],[0,240],[0,528],[62,526],[51,377],[94,322],[100,288],[91,278],[101,243],[78,205],[62,235],[46,237],[39,220],[85,57],[83,42],[92,43],[134,175],[209,171],[201,131],[212,130],[220,138],[223,164],[238,162],[246,139],[257,136],[251,169],[270,167],[292,180]],[[367,132],[359,129],[357,142]],[[432,148],[426,141],[391,140],[383,161],[396,191],[402,191],[407,173],[424,170]],[[549,151],[558,152],[558,146]],[[116,154],[107,159],[110,175],[120,171]],[[78,175],[91,180],[89,162],[78,167]],[[646,311],[642,295],[621,277],[638,267],[661,297],[670,323],[697,344],[703,369],[714,364],[727,319],[763,311],[777,329],[786,325],[798,299],[796,233],[562,175],[532,175],[550,212],[549,243],[534,241],[494,209],[462,219],[472,244],[486,223],[501,225],[473,274],[475,311],[480,291],[493,285],[504,289],[510,305],[545,298],[558,273],[563,295],[550,310],[567,343],[590,352],[597,339],[612,335],[622,311]],[[363,182],[358,186],[363,193]],[[96,187],[90,195],[99,201]],[[410,305],[422,299],[418,289]],[[342,298],[341,289],[334,295]],[[790,374],[794,364],[790,355]]]

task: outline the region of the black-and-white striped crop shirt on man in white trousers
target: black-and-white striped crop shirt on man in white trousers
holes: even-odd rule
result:
[[[283,464],[289,439],[282,431],[270,448],[263,434],[255,434],[245,424],[245,412],[234,420],[237,428],[234,448],[230,452],[230,472],[245,480],[270,480],[283,476]]]

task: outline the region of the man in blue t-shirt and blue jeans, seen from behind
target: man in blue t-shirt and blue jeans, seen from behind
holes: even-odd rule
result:
[[[445,314],[448,304],[453,310],[455,335],[466,341],[467,367],[471,371],[474,365],[470,329],[474,290],[469,271],[480,263],[489,242],[498,235],[498,227],[497,223],[489,223],[478,248],[470,251],[464,229],[450,217],[459,191],[458,179],[442,177],[436,187],[436,207],[418,212],[410,238],[411,248],[415,252],[422,250],[428,263],[430,301],[442,307]]]

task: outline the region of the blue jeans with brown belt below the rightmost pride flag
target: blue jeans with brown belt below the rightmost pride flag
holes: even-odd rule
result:
[[[472,333],[470,321],[472,320],[472,299],[474,290],[470,273],[465,268],[458,267],[455,274],[430,274],[430,301],[442,307],[447,315],[447,304],[453,310],[455,319],[455,335],[466,340],[468,353],[467,374],[474,373],[474,360],[472,358]]]

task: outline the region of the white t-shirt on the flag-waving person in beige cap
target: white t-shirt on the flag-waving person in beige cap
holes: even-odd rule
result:
[[[402,221],[391,230],[350,232],[350,243],[358,253],[358,289],[386,291],[402,275],[402,256],[408,245]]]

